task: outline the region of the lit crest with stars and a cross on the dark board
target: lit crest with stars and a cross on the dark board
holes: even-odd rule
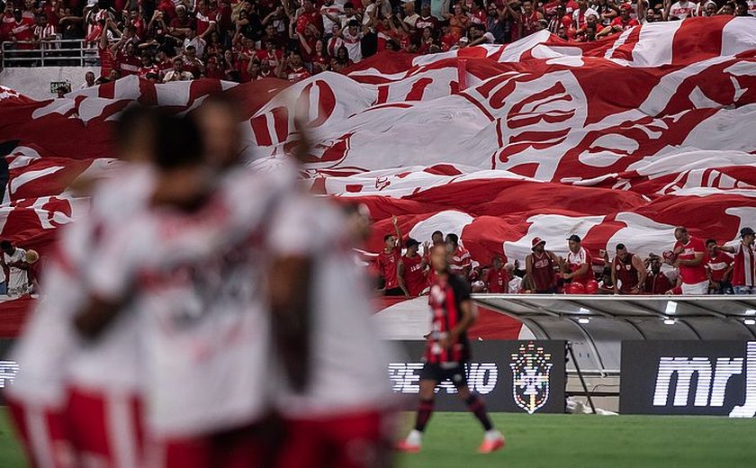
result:
[[[520,345],[512,354],[509,367],[512,369],[512,396],[515,403],[529,414],[535,413],[549,401],[549,374],[552,363],[551,353],[535,343]]]

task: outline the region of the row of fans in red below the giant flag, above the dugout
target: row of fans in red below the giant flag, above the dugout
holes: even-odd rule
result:
[[[387,296],[418,297],[434,283],[428,266],[429,247],[445,245],[449,269],[470,285],[473,293],[602,293],[602,294],[756,294],[756,250],[754,231],[741,229],[741,240],[720,245],[716,239],[703,241],[688,230],[675,229],[676,243],[662,255],[644,258],[617,244],[615,255],[607,249],[593,257],[581,245],[581,237],[567,238],[568,254],[560,257],[545,249],[545,240],[533,238],[531,254],[523,269],[518,260],[504,263],[502,256],[482,264],[473,259],[456,234],[433,233],[429,242],[413,238],[404,241],[396,218],[395,232],[383,238],[385,247],[374,262],[379,287]]]

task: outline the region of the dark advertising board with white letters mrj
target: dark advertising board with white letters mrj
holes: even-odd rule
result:
[[[623,341],[619,412],[756,415],[756,341]]]

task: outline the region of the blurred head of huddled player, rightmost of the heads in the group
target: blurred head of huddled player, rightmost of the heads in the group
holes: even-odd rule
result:
[[[222,170],[240,160],[238,107],[220,94],[206,99],[193,115],[202,130],[205,157],[211,166]]]

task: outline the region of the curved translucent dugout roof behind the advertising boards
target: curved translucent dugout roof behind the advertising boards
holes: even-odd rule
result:
[[[626,339],[756,339],[756,297],[473,294],[537,339],[572,342],[584,373],[618,374]],[[572,363],[568,368],[574,370]]]

